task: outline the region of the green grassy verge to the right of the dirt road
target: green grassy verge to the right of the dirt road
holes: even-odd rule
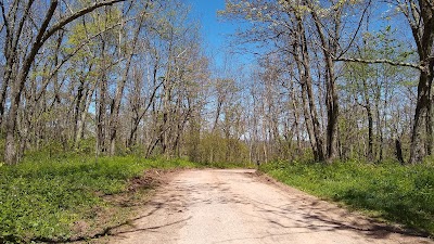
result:
[[[272,163],[261,170],[314,195],[434,236],[433,164]]]

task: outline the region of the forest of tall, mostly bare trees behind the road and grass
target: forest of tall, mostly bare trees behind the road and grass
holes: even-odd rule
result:
[[[433,153],[432,0],[227,0],[220,18],[241,23],[230,48],[257,62],[226,68],[182,0],[0,0],[0,13],[7,164],[35,151],[255,164]]]

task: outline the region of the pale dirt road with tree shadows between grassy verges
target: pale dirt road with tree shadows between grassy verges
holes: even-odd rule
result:
[[[434,242],[394,233],[394,228],[268,183],[253,170],[192,170],[162,187],[131,227],[115,230],[111,243]]]

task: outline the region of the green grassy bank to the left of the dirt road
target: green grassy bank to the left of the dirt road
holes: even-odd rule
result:
[[[141,159],[133,156],[26,159],[17,166],[0,166],[0,243],[33,240],[68,240],[92,229],[99,213],[106,226],[125,220],[106,196],[122,194],[130,179],[151,168],[202,167],[187,160]],[[145,189],[144,189],[145,191]],[[97,223],[94,223],[97,224]],[[98,223],[101,224],[101,223]]]

